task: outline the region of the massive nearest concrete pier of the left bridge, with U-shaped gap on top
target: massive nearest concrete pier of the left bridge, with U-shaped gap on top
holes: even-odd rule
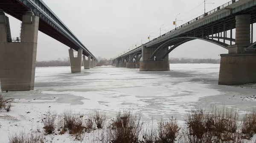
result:
[[[39,17],[22,17],[21,42],[8,39],[8,17],[0,13],[0,84],[2,91],[34,90]]]

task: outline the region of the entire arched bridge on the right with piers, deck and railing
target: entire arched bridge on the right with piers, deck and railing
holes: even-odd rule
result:
[[[169,53],[199,39],[228,50],[220,55],[218,84],[256,83],[255,22],[256,0],[232,0],[114,58],[112,63],[140,71],[169,71]]]

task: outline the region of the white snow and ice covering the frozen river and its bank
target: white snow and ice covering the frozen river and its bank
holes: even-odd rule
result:
[[[218,85],[219,64],[170,64],[170,69],[139,72],[96,67],[72,74],[70,67],[36,68],[35,90],[2,93],[12,100],[12,110],[0,111],[0,143],[7,143],[8,136],[20,130],[42,132],[41,119],[49,110],[61,114],[71,109],[89,115],[99,109],[111,119],[122,109],[134,109],[145,121],[152,116],[156,121],[174,116],[183,123],[181,120],[192,108],[224,104],[242,114],[255,105],[251,97],[256,85]],[[53,142],[71,140],[67,134],[55,135]]]

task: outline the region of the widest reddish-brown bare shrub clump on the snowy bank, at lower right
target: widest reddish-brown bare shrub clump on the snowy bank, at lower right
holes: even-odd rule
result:
[[[189,143],[239,143],[238,114],[233,109],[212,107],[211,112],[192,110],[186,118]]]

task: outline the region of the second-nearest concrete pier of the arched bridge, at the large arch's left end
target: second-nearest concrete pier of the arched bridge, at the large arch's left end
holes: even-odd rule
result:
[[[144,45],[142,47],[142,59],[140,62],[140,71],[169,71],[169,56],[167,55],[164,59],[160,59],[168,50],[168,47],[162,48],[156,55],[155,60],[150,59],[155,48],[146,48]]]

